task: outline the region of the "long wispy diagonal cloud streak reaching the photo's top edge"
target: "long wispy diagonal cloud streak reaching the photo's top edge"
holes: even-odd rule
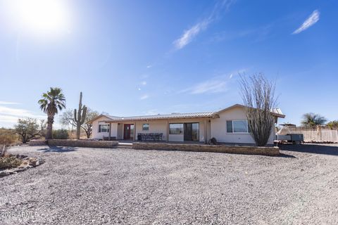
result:
[[[199,23],[196,23],[188,30],[184,30],[182,36],[179,39],[173,41],[175,49],[179,50],[184,48],[184,46],[187,46],[187,44],[189,44],[192,39],[194,39],[194,37],[196,37],[200,32],[206,30],[208,28],[208,25],[210,25],[216,18],[218,18],[220,10],[222,10],[223,8],[227,10],[233,2],[234,1],[232,0],[218,1],[217,4],[215,4],[214,6],[213,11],[207,18],[201,20],[201,22]]]

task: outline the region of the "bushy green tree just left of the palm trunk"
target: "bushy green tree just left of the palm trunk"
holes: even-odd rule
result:
[[[32,139],[44,136],[46,122],[40,120],[38,123],[37,119],[34,118],[19,119],[18,124],[14,126],[14,129],[15,132],[20,135],[21,141],[26,143]]]

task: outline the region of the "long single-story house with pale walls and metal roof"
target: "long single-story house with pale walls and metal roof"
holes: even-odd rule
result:
[[[279,108],[271,110],[275,117],[284,118]],[[89,121],[93,139],[196,141],[206,143],[215,138],[221,143],[255,143],[249,134],[244,105],[232,105],[217,112],[172,113],[116,117],[99,115]],[[273,124],[275,125],[275,124]],[[269,144],[273,144],[275,129]]]

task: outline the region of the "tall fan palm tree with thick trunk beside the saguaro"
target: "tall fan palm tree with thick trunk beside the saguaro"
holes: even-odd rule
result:
[[[38,101],[40,108],[47,114],[47,132],[46,139],[53,139],[54,115],[59,110],[65,108],[65,96],[58,87],[52,88],[47,93],[42,94],[42,99]]]

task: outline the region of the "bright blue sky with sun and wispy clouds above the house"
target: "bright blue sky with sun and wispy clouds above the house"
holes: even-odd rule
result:
[[[338,120],[338,1],[0,0],[0,127],[63,89],[110,115],[242,103],[238,73],[277,84],[280,122]]]

